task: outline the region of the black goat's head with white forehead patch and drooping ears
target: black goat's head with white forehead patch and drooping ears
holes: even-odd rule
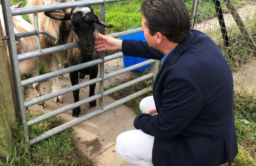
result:
[[[80,45],[81,50],[87,55],[93,53],[95,23],[107,28],[113,28],[113,25],[106,24],[98,18],[97,15],[94,14],[93,9],[89,6],[73,8],[70,13],[50,11],[44,12],[44,14],[57,20],[71,20],[71,32]]]

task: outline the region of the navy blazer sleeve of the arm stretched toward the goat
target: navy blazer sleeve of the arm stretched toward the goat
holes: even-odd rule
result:
[[[164,56],[159,50],[148,46],[147,42],[140,40],[123,40],[122,52],[125,56],[142,57],[161,60]]]

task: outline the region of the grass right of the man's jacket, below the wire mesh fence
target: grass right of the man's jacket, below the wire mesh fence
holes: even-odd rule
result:
[[[235,93],[234,117],[239,153],[234,166],[256,166],[256,94]]]

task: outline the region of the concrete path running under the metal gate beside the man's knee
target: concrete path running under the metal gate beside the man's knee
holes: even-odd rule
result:
[[[105,63],[105,69],[107,69],[106,72],[108,73],[122,68],[122,59],[115,59]],[[118,80],[125,80],[133,77],[134,72],[125,73],[115,78],[105,80],[104,86],[107,86]],[[89,78],[85,77],[85,79],[80,81],[83,82],[86,80],[89,80]],[[43,94],[50,93],[50,89],[52,87],[51,82],[51,80],[47,80],[40,84]],[[59,79],[59,83],[63,89],[71,86],[69,75],[65,74],[63,78]],[[96,94],[98,93],[98,87],[99,84],[97,83]],[[80,100],[88,97],[88,95],[89,87],[80,89]],[[25,88],[25,96],[27,100],[31,100],[35,96],[34,89],[31,85],[28,85]],[[41,110],[43,113],[47,113],[52,110],[56,110],[66,105],[72,104],[73,101],[73,94],[71,92],[63,95],[63,103],[54,103],[52,99],[46,101],[47,107],[45,109],[40,109],[37,105],[34,105],[29,107],[29,110]],[[115,100],[111,97],[104,97],[104,105],[108,105],[114,101]],[[97,107],[92,109],[89,108],[89,103],[82,105],[80,116],[85,115],[86,113],[90,113],[96,109],[98,109],[98,100]],[[75,117],[72,117],[71,114],[72,110],[69,110],[68,112],[60,114],[59,117],[63,119],[63,122],[65,123],[75,119]],[[135,129],[133,127],[133,120],[135,117],[136,114],[133,110],[129,109],[125,105],[120,105],[106,113],[85,121],[82,124],[76,125],[73,127],[73,129],[74,132],[76,132],[75,141],[77,147],[81,149],[85,155],[96,161],[98,166],[131,166],[131,164],[124,162],[124,160],[122,160],[116,153],[115,140],[121,132]]]

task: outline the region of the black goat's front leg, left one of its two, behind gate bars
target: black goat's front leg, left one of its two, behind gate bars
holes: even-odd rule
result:
[[[72,86],[78,84],[78,72],[72,72],[69,73],[70,81]],[[79,89],[73,91],[73,96],[74,96],[74,103],[79,101]],[[81,112],[81,107],[76,107],[72,110],[72,117],[78,117],[79,113]]]

